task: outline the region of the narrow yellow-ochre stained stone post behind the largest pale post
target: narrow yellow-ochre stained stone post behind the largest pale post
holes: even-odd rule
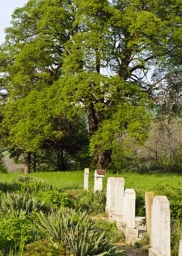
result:
[[[153,191],[145,192],[145,212],[146,212],[146,220],[147,220],[147,234],[150,240],[151,246],[151,219],[152,219],[152,204],[153,198],[155,194]]]

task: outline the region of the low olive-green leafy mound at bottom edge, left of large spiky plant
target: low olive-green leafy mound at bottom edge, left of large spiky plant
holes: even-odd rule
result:
[[[40,240],[28,244],[23,256],[67,256],[63,244],[53,244],[50,240]]]

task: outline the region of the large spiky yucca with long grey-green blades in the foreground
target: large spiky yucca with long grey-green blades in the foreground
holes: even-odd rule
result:
[[[86,211],[61,208],[47,217],[41,212],[39,218],[48,236],[55,242],[63,241],[73,256],[122,255],[95,227]]]

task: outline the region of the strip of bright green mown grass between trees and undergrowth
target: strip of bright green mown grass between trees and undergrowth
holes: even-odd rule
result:
[[[16,177],[17,173],[0,174],[1,181],[11,181]],[[46,180],[49,184],[56,184],[63,189],[83,189],[84,171],[75,172],[38,172],[31,173],[32,177],[39,177]],[[159,184],[175,185],[176,180],[182,180],[182,174],[107,174],[103,178],[103,187],[106,188],[108,177],[124,177],[125,188],[145,189],[145,191],[153,190]],[[182,188],[182,184],[180,185]],[[94,171],[89,174],[89,188],[94,188]]]

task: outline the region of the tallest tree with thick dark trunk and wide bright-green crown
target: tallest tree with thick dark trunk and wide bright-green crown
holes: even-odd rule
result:
[[[54,88],[57,114],[71,118],[73,106],[85,108],[93,162],[111,165],[111,140],[132,125],[132,136],[139,138],[137,131],[148,128],[145,93],[153,99],[158,84],[168,84],[181,68],[181,3],[29,0],[15,10],[0,51],[1,84],[10,102]],[[127,117],[130,108],[137,126]],[[108,122],[114,136],[103,147],[97,138]]]

